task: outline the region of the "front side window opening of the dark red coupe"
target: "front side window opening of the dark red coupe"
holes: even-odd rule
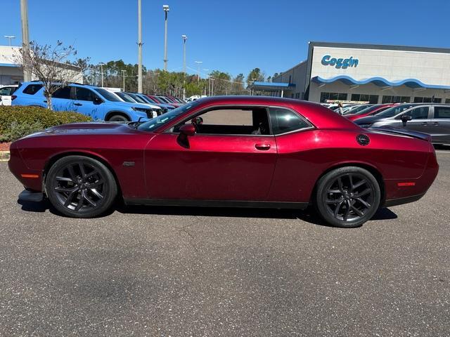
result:
[[[220,107],[184,121],[195,132],[210,135],[269,135],[269,117],[265,107]],[[181,126],[183,124],[180,124]],[[178,132],[179,126],[174,128]]]

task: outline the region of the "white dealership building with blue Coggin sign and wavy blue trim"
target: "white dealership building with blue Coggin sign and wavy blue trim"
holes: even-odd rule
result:
[[[450,103],[450,49],[309,42],[307,60],[254,89],[321,103]]]

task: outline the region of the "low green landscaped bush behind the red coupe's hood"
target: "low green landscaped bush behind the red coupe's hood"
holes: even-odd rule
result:
[[[51,126],[83,121],[92,119],[77,112],[53,112],[42,107],[0,106],[0,142],[12,142]]]

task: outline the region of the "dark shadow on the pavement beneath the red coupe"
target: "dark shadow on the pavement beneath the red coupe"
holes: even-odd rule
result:
[[[22,210],[27,212],[43,213],[49,210],[51,213],[61,216],[56,209],[51,206],[49,200],[43,201],[23,201],[18,200],[22,205]],[[233,207],[185,207],[185,206],[124,206],[118,204],[105,213],[103,216],[110,216],[114,211],[122,214],[154,214],[169,216],[215,216],[228,218],[274,218],[274,219],[299,219],[314,225],[333,227],[323,221],[312,209],[308,207],[304,211],[296,209],[251,209]],[[371,220],[396,219],[397,214],[390,209],[380,209]]]

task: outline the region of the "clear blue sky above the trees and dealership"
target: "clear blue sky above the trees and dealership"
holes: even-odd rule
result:
[[[29,0],[30,39],[75,44],[92,62],[137,62],[137,0]],[[450,47],[446,0],[142,0],[143,64],[163,67],[169,4],[168,69],[188,67],[247,75],[288,70],[307,57],[308,41]],[[45,6],[44,6],[45,4]],[[20,1],[1,0],[0,38],[20,44]],[[193,72],[193,71],[190,71]]]

